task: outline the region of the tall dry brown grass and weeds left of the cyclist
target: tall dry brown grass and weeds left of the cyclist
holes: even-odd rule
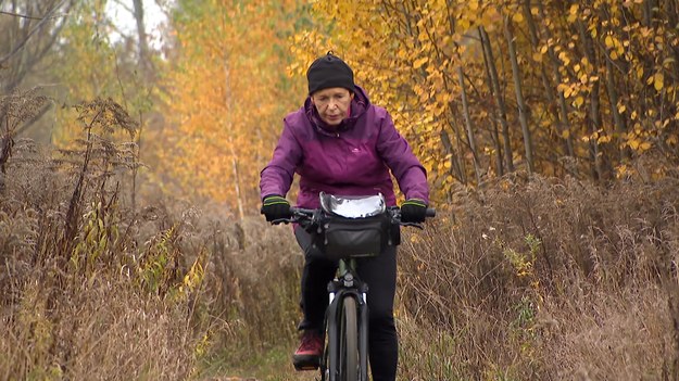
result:
[[[0,379],[201,379],[214,353],[289,342],[287,231],[177,200],[130,209],[134,123],[104,100],[78,112],[72,149],[17,140],[3,163]]]

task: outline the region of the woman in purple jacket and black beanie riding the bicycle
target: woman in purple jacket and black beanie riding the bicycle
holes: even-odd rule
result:
[[[395,205],[391,174],[406,201],[401,220],[425,220],[429,187],[427,175],[408,143],[397,131],[389,113],[370,103],[354,84],[353,71],[328,52],[306,72],[309,97],[304,105],[288,114],[273,158],[261,173],[262,213],[267,221],[289,218],[285,195],[294,173],[300,175],[297,206],[316,208],[318,194],[383,194]],[[301,284],[303,320],[301,344],[293,355],[298,369],[317,366],[323,353],[323,323],[328,306],[326,284],[337,262],[314,247],[312,237],[300,227],[296,238],[304,251]],[[368,347],[373,379],[395,380],[398,336],[393,319],[397,250],[387,246],[380,255],[361,258],[359,276],[370,285]]]

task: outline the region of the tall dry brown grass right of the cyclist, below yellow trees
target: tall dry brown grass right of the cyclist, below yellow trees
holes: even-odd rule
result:
[[[676,379],[678,185],[468,195],[401,252],[402,377]]]

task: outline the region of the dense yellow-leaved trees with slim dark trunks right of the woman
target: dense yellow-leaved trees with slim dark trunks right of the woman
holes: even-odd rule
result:
[[[455,183],[505,170],[609,180],[640,155],[676,163],[676,11],[642,0],[315,2],[296,54],[342,54],[445,200]]]

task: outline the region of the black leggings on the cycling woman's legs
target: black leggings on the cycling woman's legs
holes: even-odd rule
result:
[[[327,284],[332,280],[337,262],[323,258],[311,245],[311,236],[296,228],[294,236],[304,251],[302,297],[300,306],[304,319],[300,330],[323,330],[328,306]],[[361,280],[368,283],[368,352],[374,381],[394,381],[399,358],[399,340],[393,321],[393,297],[397,289],[397,249],[388,246],[375,257],[357,262]]]

